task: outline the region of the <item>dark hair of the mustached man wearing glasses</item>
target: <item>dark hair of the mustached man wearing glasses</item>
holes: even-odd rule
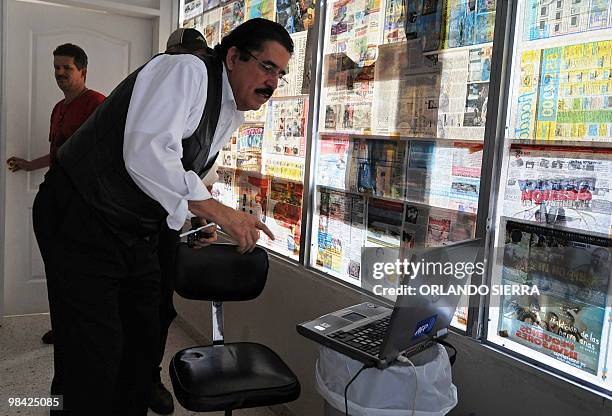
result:
[[[267,41],[276,41],[283,45],[287,52],[293,53],[293,40],[287,30],[276,22],[259,17],[247,20],[236,27],[221,39],[221,43],[215,47],[215,50],[225,62],[227,51],[235,46],[242,52],[240,58],[248,60],[249,55],[246,52],[261,51],[263,43]]]

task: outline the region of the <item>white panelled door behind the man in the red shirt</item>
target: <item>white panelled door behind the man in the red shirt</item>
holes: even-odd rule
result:
[[[51,110],[63,98],[53,76],[56,46],[70,42],[85,50],[87,86],[104,95],[151,57],[151,19],[14,0],[6,11],[7,157],[34,159],[49,151]],[[32,231],[32,203],[45,170],[4,175],[5,315],[48,311],[45,272]]]

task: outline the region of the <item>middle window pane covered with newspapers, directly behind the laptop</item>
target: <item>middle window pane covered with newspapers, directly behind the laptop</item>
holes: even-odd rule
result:
[[[311,266],[375,290],[364,247],[474,237],[495,2],[337,0],[326,16]]]

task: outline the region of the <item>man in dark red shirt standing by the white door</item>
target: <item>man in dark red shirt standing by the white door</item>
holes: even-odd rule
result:
[[[64,99],[55,104],[51,112],[49,153],[33,160],[12,156],[6,161],[11,172],[31,172],[53,165],[57,149],[104,101],[104,95],[85,86],[87,54],[82,48],[71,43],[59,45],[53,51],[53,67],[55,81],[64,93]],[[53,344],[53,331],[45,333],[42,340],[45,344]]]

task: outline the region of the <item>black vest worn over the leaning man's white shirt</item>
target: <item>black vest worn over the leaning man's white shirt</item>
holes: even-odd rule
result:
[[[182,141],[181,161],[186,171],[203,177],[212,166],[206,161],[221,111],[223,64],[216,55],[201,59],[208,71],[206,106],[193,135]],[[145,65],[123,80],[57,153],[59,165],[85,202],[127,245],[157,234],[168,215],[134,183],[123,160],[130,98]]]

